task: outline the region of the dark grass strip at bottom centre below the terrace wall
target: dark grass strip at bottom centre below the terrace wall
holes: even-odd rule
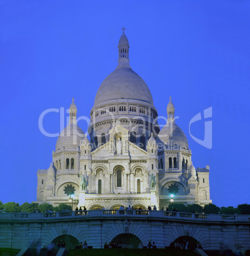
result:
[[[82,249],[82,250],[70,250],[67,256],[78,256],[78,255],[86,255],[86,256],[95,256],[95,255],[124,255],[124,256],[137,256],[137,255],[145,255],[145,256],[192,256],[195,255],[194,252],[190,250],[176,250],[176,249]]]

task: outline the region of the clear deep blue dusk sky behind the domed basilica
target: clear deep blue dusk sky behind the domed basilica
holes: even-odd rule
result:
[[[195,167],[210,166],[218,206],[250,204],[249,1],[0,0],[0,201],[36,201],[37,169],[56,138],[41,134],[48,108],[89,117],[98,87],[117,66],[126,27],[133,70],[147,83],[159,116],[172,96]],[[213,108],[213,147],[188,124]],[[66,124],[67,113],[65,113]],[[79,126],[86,131],[83,121]],[[60,115],[44,118],[60,132]],[[191,128],[204,138],[204,120]]]

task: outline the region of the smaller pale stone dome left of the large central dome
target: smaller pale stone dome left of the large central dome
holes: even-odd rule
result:
[[[56,150],[64,148],[77,148],[85,134],[77,124],[69,124],[63,129],[56,141]]]

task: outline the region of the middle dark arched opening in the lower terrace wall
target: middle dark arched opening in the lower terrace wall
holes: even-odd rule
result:
[[[114,245],[114,243],[118,248],[136,249],[141,243],[141,240],[134,234],[119,234],[112,239],[111,245]]]

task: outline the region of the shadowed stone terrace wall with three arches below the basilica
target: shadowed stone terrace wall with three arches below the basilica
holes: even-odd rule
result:
[[[31,241],[41,241],[41,247],[64,240],[68,249],[82,241],[93,248],[103,248],[105,242],[120,243],[131,239],[129,248],[141,242],[155,241],[157,248],[171,246],[176,239],[201,243],[203,250],[227,248],[250,249],[247,215],[201,215],[166,211],[95,210],[86,214],[62,213],[2,213],[0,215],[0,247],[27,248]],[[189,243],[191,245],[191,243]],[[196,247],[196,245],[195,245]]]

